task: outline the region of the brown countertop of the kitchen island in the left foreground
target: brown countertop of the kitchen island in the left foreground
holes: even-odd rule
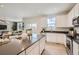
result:
[[[18,39],[11,39],[11,41],[5,45],[0,46],[0,55],[17,55],[21,51],[29,48],[34,43],[39,41],[45,35],[37,35],[36,37],[32,37],[29,40],[18,40]]]

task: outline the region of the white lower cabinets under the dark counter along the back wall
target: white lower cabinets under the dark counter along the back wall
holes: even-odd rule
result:
[[[47,33],[47,41],[66,45],[66,35],[61,33]]]

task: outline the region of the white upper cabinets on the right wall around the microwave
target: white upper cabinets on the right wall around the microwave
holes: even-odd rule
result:
[[[79,4],[76,4],[71,10],[70,12],[68,13],[67,17],[67,27],[72,27],[73,24],[72,24],[72,20],[73,18],[79,16]]]

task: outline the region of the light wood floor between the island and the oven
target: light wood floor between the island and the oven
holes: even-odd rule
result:
[[[46,42],[43,55],[67,55],[67,52],[63,44]]]

